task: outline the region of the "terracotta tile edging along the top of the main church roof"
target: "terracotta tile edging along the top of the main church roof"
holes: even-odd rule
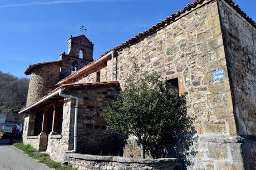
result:
[[[183,10],[179,10],[176,13],[171,14],[171,16],[166,17],[165,19],[163,19],[161,22],[156,23],[154,26],[152,26],[151,28],[140,32],[139,34],[137,34],[135,37],[132,37],[130,39],[128,39],[126,42],[120,44],[119,46],[116,46],[112,49],[110,49],[109,51],[106,51],[104,54],[102,54],[96,61],[99,61],[99,59],[101,59],[102,57],[104,57],[107,53],[111,52],[111,51],[119,51],[122,48],[125,48],[133,43],[135,43],[136,41],[138,41],[140,38],[143,38],[145,36],[147,36],[148,34],[157,31],[158,29],[167,26],[168,24],[170,24],[171,22],[175,21],[176,18],[180,17],[181,14],[190,11],[192,8],[196,8],[199,4],[203,4],[204,2],[211,2],[214,0],[195,0],[193,3],[189,3]],[[237,11],[242,17],[244,17],[250,24],[252,24],[252,26],[254,28],[256,28],[256,23],[253,21],[252,18],[250,18],[244,11],[242,11],[242,9],[239,8],[239,6],[237,4],[235,4],[232,0],[224,0],[225,2],[227,2],[232,8],[235,9],[235,11]],[[76,73],[71,74],[70,76],[63,78],[59,83],[57,84],[61,84],[64,83],[65,81],[67,81],[68,79],[74,77],[77,73],[80,73],[82,69],[85,69],[86,67],[89,67],[91,65],[93,65],[93,63],[95,63],[96,61],[93,61],[89,64],[87,64],[86,66],[82,67],[80,70],[78,70]]]

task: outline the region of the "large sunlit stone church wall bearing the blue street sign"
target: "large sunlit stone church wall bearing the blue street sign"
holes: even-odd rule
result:
[[[189,157],[194,163],[189,168],[243,169],[218,4],[204,3],[117,52],[115,77],[122,88],[132,63],[137,62],[143,71],[158,72],[165,79],[178,78],[180,93],[188,92],[188,113],[198,116],[192,147],[196,154]],[[111,66],[107,67],[110,71]],[[225,70],[225,78],[213,81],[212,73],[218,69]]]

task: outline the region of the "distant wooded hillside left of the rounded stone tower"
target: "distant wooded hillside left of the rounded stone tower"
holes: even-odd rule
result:
[[[28,84],[27,78],[0,71],[0,113],[3,107],[21,109],[26,106]]]

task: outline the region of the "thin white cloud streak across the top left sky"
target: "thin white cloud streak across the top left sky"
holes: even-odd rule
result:
[[[28,3],[15,3],[15,4],[0,4],[0,8],[9,7],[24,7],[24,6],[40,6],[40,5],[50,5],[50,4],[61,4],[61,3],[82,3],[82,2],[125,2],[132,0],[60,0],[60,1],[45,1],[45,2],[28,2]]]

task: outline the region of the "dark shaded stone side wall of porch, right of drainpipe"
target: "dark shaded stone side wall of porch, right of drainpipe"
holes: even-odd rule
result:
[[[67,93],[79,98],[77,121],[77,152],[109,155],[113,153],[103,114],[109,111],[115,86],[71,89]],[[117,147],[117,146],[116,146]]]

